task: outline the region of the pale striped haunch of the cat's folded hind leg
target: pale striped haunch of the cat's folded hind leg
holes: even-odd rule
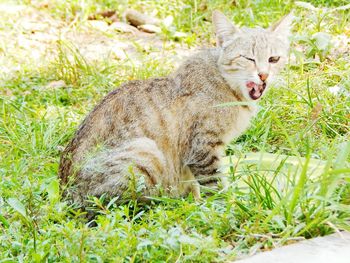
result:
[[[80,204],[89,195],[144,199],[158,195],[159,186],[169,185],[167,172],[166,159],[156,142],[136,138],[87,157],[68,195]]]

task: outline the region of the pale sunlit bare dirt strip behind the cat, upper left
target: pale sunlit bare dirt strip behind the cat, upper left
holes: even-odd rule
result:
[[[42,7],[40,7],[42,8]],[[101,59],[132,60],[142,63],[144,54],[152,59],[166,57],[176,66],[191,49],[161,34],[141,32],[131,26],[104,20],[65,22],[48,10],[25,5],[0,4],[0,77],[6,77],[23,65],[46,65],[57,56],[58,42],[73,44],[87,61]]]

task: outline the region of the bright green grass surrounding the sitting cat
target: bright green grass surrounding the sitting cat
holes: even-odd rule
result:
[[[20,17],[5,13],[0,33],[11,37],[0,40],[0,262],[223,262],[350,230],[350,59],[336,42],[350,38],[350,15],[334,10],[346,1],[311,2],[320,9],[265,0],[22,3],[75,33],[85,32],[89,14],[108,8],[173,16],[160,35],[170,52],[177,45],[213,44],[214,8],[246,26],[267,26],[295,9],[283,78],[261,102],[251,128],[227,147],[230,189],[208,189],[200,203],[191,196],[157,198],[147,206],[94,199],[95,227],[60,196],[60,150],[108,91],[130,79],[166,75],[173,61],[154,59],[152,48],[137,41],[137,59],[89,60],[67,39],[36,60],[11,39],[29,34],[18,26]],[[179,39],[176,32],[185,35]],[[65,85],[50,86],[57,80]]]

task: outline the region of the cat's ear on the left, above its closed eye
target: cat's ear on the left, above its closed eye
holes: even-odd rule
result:
[[[239,28],[234,26],[223,13],[217,10],[213,12],[213,25],[216,34],[216,44],[219,47],[231,38],[233,34],[240,32]]]

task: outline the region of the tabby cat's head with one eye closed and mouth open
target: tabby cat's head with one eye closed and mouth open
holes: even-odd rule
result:
[[[288,58],[289,14],[267,29],[238,28],[214,11],[213,24],[220,48],[218,66],[231,88],[247,100],[258,100]]]

